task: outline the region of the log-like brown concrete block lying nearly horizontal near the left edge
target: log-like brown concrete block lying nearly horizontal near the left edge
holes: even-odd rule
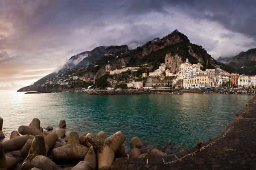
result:
[[[9,139],[2,143],[3,149],[5,151],[20,150],[29,139],[33,139],[33,138],[34,138],[34,136],[32,136],[32,135],[23,135],[23,136],[18,136],[13,139]]]

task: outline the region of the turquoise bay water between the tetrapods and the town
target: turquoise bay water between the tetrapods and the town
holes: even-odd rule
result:
[[[58,127],[65,119],[68,133],[104,130],[111,135],[121,130],[126,147],[138,136],[150,146],[179,150],[218,135],[250,99],[252,96],[220,94],[88,96],[83,92],[0,91],[0,117],[7,138],[33,118],[40,119],[44,128]]]

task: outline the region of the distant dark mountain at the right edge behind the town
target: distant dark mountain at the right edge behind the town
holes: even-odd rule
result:
[[[256,48],[242,51],[234,57],[219,57],[217,61],[229,65],[239,74],[256,75]]]

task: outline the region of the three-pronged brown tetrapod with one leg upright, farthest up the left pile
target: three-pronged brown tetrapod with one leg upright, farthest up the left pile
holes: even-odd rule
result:
[[[32,122],[29,124],[29,126],[20,126],[18,129],[19,133],[22,135],[40,135],[45,136],[45,134],[41,131],[40,127],[40,120],[37,118],[34,118]]]

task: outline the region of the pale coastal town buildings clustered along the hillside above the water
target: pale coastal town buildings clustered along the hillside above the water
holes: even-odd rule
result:
[[[140,67],[123,67],[116,70],[109,70],[109,75],[120,75],[125,72],[138,71]],[[83,86],[87,85],[87,88],[83,90],[96,89],[95,81],[89,77],[78,76],[80,70],[70,68],[63,74],[55,76],[55,78],[49,79],[42,87],[51,86],[65,86],[72,88],[72,85]],[[159,80],[158,82],[149,84],[143,81],[134,81],[128,79],[123,81],[123,89],[163,89],[163,88],[178,88],[178,89],[202,89],[208,90],[212,88],[255,88],[256,87],[256,75],[247,76],[239,75],[236,73],[228,73],[221,68],[204,69],[201,63],[192,64],[189,59],[186,58],[186,62],[183,62],[179,66],[178,72],[172,72],[171,68],[168,68],[164,63],[160,64],[158,69],[142,73],[139,76],[140,79],[148,79],[149,77]],[[168,81],[164,81],[168,79]],[[160,83],[161,82],[161,83]],[[118,82],[116,82],[118,84]],[[105,87],[105,90],[122,90],[122,88],[116,88],[117,86]],[[102,89],[103,90],[103,89]]]

